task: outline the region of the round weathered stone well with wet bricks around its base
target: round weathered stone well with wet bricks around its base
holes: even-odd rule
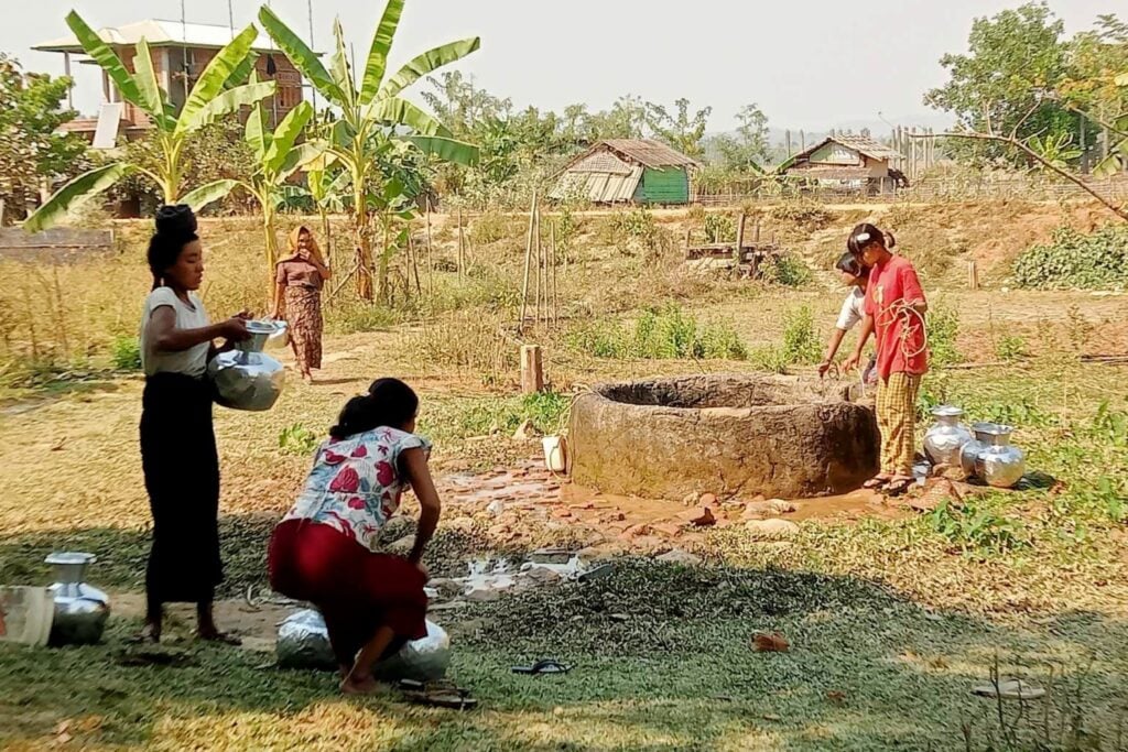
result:
[[[711,374],[596,387],[569,430],[575,483],[681,499],[841,494],[878,471],[878,424],[849,388],[784,375]]]

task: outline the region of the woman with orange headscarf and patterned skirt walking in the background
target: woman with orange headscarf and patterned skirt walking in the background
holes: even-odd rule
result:
[[[321,369],[321,287],[333,276],[309,228],[290,233],[290,255],[277,263],[274,318],[290,327],[293,356],[307,383]]]

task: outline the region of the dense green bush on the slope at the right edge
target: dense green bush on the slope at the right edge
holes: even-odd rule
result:
[[[1033,290],[1101,290],[1128,285],[1128,225],[1107,224],[1092,235],[1063,227],[1045,246],[1014,262],[1014,280]]]

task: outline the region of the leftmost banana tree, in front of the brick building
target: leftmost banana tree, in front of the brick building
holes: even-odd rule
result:
[[[117,161],[78,176],[44,202],[28,218],[25,229],[37,232],[56,224],[71,209],[133,172],[152,180],[166,204],[186,203],[199,210],[226,195],[230,191],[226,180],[184,193],[184,147],[205,125],[274,94],[273,81],[246,83],[254,64],[250,47],[258,35],[255,27],[252,25],[245,28],[212,57],[177,113],[169,101],[168,92],[160,87],[146,39],[142,38],[136,44],[133,57],[135,72],[130,73],[117,53],[77,12],[71,11],[67,16],[67,25],[86,54],[106,72],[122,98],[144,112],[152,121],[162,159],[155,169]]]

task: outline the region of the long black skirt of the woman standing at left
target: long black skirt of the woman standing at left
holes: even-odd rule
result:
[[[158,373],[146,380],[141,467],[152,511],[146,570],[150,602],[211,601],[223,567],[219,454],[208,380],[183,373]]]

